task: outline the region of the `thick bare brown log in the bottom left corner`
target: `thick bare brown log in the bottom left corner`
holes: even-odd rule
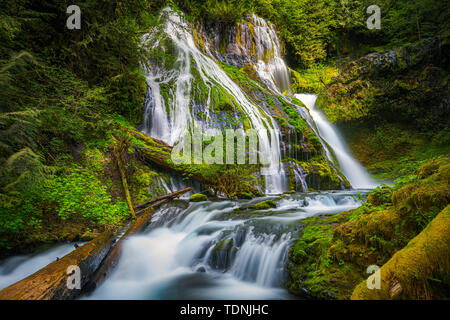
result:
[[[80,268],[81,288],[91,278],[114,243],[115,231],[108,230],[54,261],[32,275],[0,291],[0,300],[67,300],[74,299],[81,289],[69,289],[68,268]]]

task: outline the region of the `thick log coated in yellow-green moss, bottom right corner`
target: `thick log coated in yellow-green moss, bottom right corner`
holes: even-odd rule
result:
[[[355,288],[351,299],[445,298],[450,288],[450,206],[395,253],[381,267],[380,276],[380,289],[369,290],[363,281]]]

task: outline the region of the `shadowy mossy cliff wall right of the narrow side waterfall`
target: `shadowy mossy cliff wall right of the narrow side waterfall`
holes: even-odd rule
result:
[[[449,111],[450,36],[344,64],[318,104],[332,122],[384,120],[430,128]]]

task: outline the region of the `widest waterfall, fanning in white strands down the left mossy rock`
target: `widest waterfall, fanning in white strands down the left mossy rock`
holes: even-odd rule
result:
[[[276,122],[247,97],[216,61],[204,55],[195,46],[190,28],[181,16],[169,8],[163,10],[163,16],[164,34],[174,47],[176,61],[171,70],[164,70],[154,63],[145,68],[148,90],[143,132],[170,145],[181,143],[194,128],[206,128],[213,134],[217,128],[192,116],[192,95],[194,89],[207,89],[207,93],[201,92],[207,96],[202,102],[202,111],[209,115],[213,90],[220,87],[233,103],[239,105],[250,120],[250,126],[258,132],[260,158],[269,159],[269,164],[261,170],[266,176],[266,193],[285,191],[286,173],[281,163],[280,131]],[[162,46],[161,41],[155,38],[156,35],[149,33],[143,37],[143,41],[153,44],[153,47]],[[158,36],[160,37],[159,34]],[[163,49],[168,50],[164,47]],[[200,88],[193,88],[194,80],[201,83]]]

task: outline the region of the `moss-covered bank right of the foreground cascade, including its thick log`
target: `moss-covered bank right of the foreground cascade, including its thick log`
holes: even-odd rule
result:
[[[303,220],[303,235],[290,249],[288,289],[324,299],[349,299],[361,282],[354,298],[443,297],[450,289],[449,241],[448,236],[442,237],[445,244],[433,239],[448,229],[448,221],[443,220],[448,220],[449,169],[448,158],[431,160],[407,182],[375,189],[358,209]],[[417,249],[410,251],[416,243]],[[425,252],[432,252],[433,257],[418,253],[427,244]],[[414,262],[408,262],[408,257]],[[390,270],[389,275],[398,273],[393,283],[400,282],[404,294],[368,293],[364,287],[370,265],[383,266],[382,279],[383,268]],[[417,272],[424,265],[425,271]],[[383,281],[389,283],[390,278]],[[424,284],[423,290],[416,290]]]

